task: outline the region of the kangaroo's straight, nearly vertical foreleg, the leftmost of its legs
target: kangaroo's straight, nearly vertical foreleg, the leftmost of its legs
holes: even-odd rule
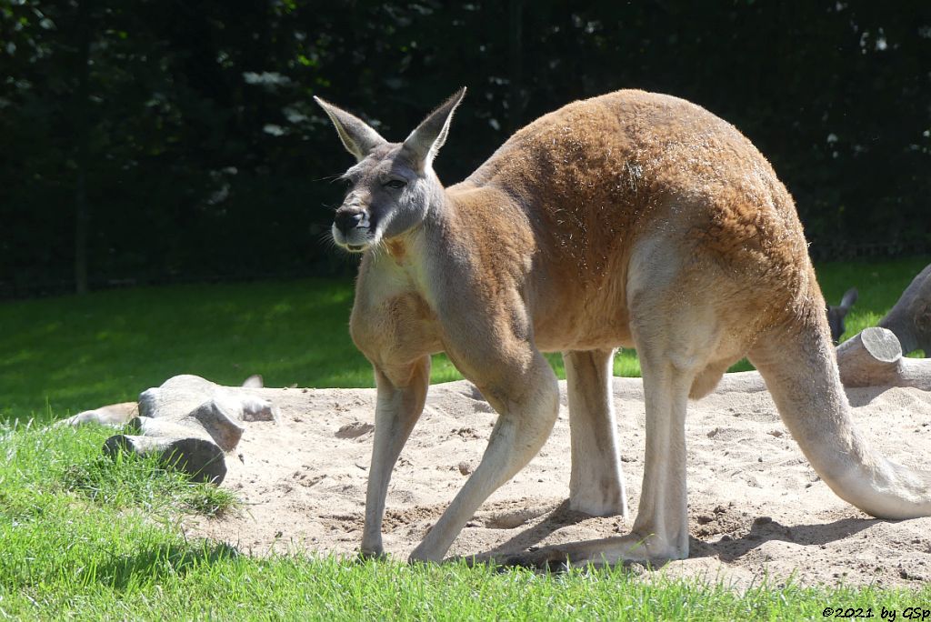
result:
[[[375,405],[375,438],[371,449],[369,488],[365,495],[365,529],[362,554],[381,555],[382,519],[391,471],[411,436],[414,424],[424,412],[430,384],[430,357],[414,361],[401,370],[375,368],[378,398]]]

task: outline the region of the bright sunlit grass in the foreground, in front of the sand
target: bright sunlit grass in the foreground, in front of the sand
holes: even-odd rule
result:
[[[623,568],[564,575],[464,563],[251,556],[187,540],[186,513],[241,511],[222,490],[151,460],[102,458],[111,431],[0,429],[0,618],[822,619],[826,606],[931,602],[922,590],[644,581]],[[262,553],[264,551],[254,551]]]

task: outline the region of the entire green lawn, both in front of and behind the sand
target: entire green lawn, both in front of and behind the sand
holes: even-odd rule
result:
[[[831,302],[856,285],[848,334],[875,323],[927,263],[828,264]],[[190,514],[248,511],[154,460],[101,455],[112,430],[25,425],[135,399],[171,375],[224,384],[371,385],[346,331],[351,284],[305,280],[107,291],[0,304],[0,618],[823,619],[901,612],[921,590],[643,581],[624,569],[534,575],[464,564],[253,557],[188,540]],[[559,364],[559,361],[554,361]],[[561,370],[558,369],[561,373]],[[639,373],[622,355],[615,372]],[[437,358],[434,382],[458,374]]]

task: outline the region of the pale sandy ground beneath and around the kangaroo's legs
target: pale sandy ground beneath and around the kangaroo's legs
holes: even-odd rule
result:
[[[531,464],[479,508],[450,550],[506,557],[529,547],[624,534],[631,521],[591,518],[565,505],[569,422],[560,417]],[[690,405],[688,560],[654,573],[722,579],[764,575],[803,584],[917,587],[931,581],[931,518],[871,519],[831,493],[805,461],[769,394],[726,382]],[[362,533],[372,442],[373,389],[236,389],[273,400],[279,423],[255,422],[227,458],[224,487],[244,502],[219,519],[197,519],[191,535],[252,554],[352,554]],[[857,426],[886,456],[931,463],[931,393],[850,389]],[[614,379],[628,502],[638,506],[643,472],[639,379]],[[424,415],[395,467],[385,515],[385,550],[406,556],[466,481],[496,414],[463,382],[434,385]],[[632,514],[633,516],[633,514]],[[631,517],[632,518],[632,517]]]

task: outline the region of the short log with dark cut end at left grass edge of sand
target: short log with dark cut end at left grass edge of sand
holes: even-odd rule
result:
[[[103,443],[103,453],[115,457],[121,452],[139,455],[155,453],[159,462],[182,470],[195,481],[219,485],[226,477],[223,451],[208,439],[117,434]]]

